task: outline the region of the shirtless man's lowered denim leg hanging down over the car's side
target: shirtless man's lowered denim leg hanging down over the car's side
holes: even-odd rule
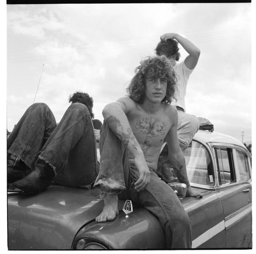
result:
[[[131,165],[131,170],[136,170]],[[189,216],[173,189],[150,169],[150,183],[137,192],[131,186],[130,198],[152,212],[165,231],[167,249],[191,248],[191,223]]]

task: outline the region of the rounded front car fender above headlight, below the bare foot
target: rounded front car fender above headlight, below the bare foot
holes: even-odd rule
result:
[[[83,227],[74,239],[77,242],[98,242],[108,249],[165,249],[165,234],[153,214],[144,208],[135,208],[126,217],[120,212],[114,221],[91,222]]]

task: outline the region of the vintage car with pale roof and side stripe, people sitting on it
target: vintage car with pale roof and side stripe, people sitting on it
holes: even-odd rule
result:
[[[193,189],[180,202],[192,224],[192,248],[252,248],[251,154],[238,140],[201,131],[185,151]],[[158,219],[120,200],[119,215],[97,223],[99,189],[52,184],[46,191],[8,191],[9,250],[166,249]]]

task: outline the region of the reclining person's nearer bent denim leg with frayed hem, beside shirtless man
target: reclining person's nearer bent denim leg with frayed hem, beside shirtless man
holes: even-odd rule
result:
[[[57,184],[90,188],[96,179],[99,163],[96,138],[88,108],[81,103],[69,106],[60,123],[40,151],[39,160],[57,171]]]

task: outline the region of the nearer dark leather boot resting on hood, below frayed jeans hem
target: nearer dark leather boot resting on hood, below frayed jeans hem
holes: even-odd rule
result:
[[[20,181],[13,183],[13,185],[23,191],[37,193],[49,187],[54,176],[55,174],[51,166],[42,163],[39,167],[36,164],[34,171]]]

